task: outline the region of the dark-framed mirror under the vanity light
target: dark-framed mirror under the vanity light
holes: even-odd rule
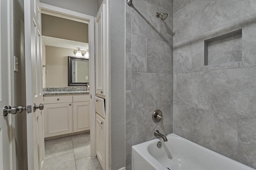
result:
[[[68,86],[86,86],[89,76],[89,59],[68,56]]]

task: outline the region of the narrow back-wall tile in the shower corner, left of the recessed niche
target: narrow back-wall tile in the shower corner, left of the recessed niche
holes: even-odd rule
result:
[[[174,44],[173,72],[184,73],[192,71],[192,40],[186,39]]]

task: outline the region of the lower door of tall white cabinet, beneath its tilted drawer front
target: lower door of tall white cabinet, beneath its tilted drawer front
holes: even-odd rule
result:
[[[96,114],[96,155],[98,162],[103,170],[105,170],[105,120]]]

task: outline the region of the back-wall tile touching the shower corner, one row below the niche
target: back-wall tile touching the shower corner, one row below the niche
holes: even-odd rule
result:
[[[210,72],[177,74],[177,104],[210,110],[212,86],[210,76]]]

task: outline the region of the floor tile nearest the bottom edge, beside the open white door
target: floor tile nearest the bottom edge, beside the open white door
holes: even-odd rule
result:
[[[74,154],[64,154],[45,160],[45,170],[76,170]]]

